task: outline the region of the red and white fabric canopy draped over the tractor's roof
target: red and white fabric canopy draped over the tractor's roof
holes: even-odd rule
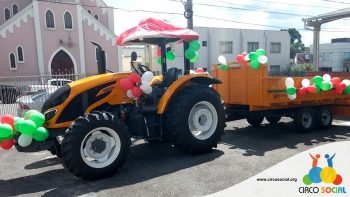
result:
[[[139,25],[126,30],[117,38],[117,45],[132,44],[166,44],[178,40],[190,42],[197,40],[199,34],[193,30],[176,27],[168,22],[148,18],[142,20]]]

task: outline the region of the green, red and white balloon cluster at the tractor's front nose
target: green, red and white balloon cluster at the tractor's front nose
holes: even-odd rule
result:
[[[29,146],[33,139],[41,142],[49,137],[48,130],[42,127],[45,116],[36,110],[27,111],[24,118],[4,115],[0,121],[0,147],[5,150],[12,148],[17,132],[21,134],[18,138],[21,147]]]

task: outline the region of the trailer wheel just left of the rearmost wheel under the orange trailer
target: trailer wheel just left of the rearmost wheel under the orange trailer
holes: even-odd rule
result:
[[[297,109],[294,115],[294,126],[298,133],[312,130],[315,126],[315,117],[312,109],[308,107]]]

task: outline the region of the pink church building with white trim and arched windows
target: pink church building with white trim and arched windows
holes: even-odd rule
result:
[[[102,0],[1,0],[0,76],[96,74],[96,47],[118,71],[113,8]]]

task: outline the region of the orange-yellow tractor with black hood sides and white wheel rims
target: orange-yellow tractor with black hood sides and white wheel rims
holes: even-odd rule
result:
[[[104,73],[101,55],[100,74],[61,87],[42,106],[49,140],[16,148],[24,152],[49,148],[62,157],[74,175],[93,180],[117,172],[127,158],[132,136],[150,142],[170,141],[190,154],[216,147],[224,131],[225,115],[220,96],[210,85],[220,81],[208,73],[178,78],[176,68],[166,68],[165,45],[181,41],[181,36],[149,38],[138,34],[126,41],[155,44],[162,49],[163,80],[152,85],[150,95],[127,97],[120,81],[131,72]],[[138,74],[150,70],[146,66],[135,68],[135,60],[133,53],[131,66]]]

